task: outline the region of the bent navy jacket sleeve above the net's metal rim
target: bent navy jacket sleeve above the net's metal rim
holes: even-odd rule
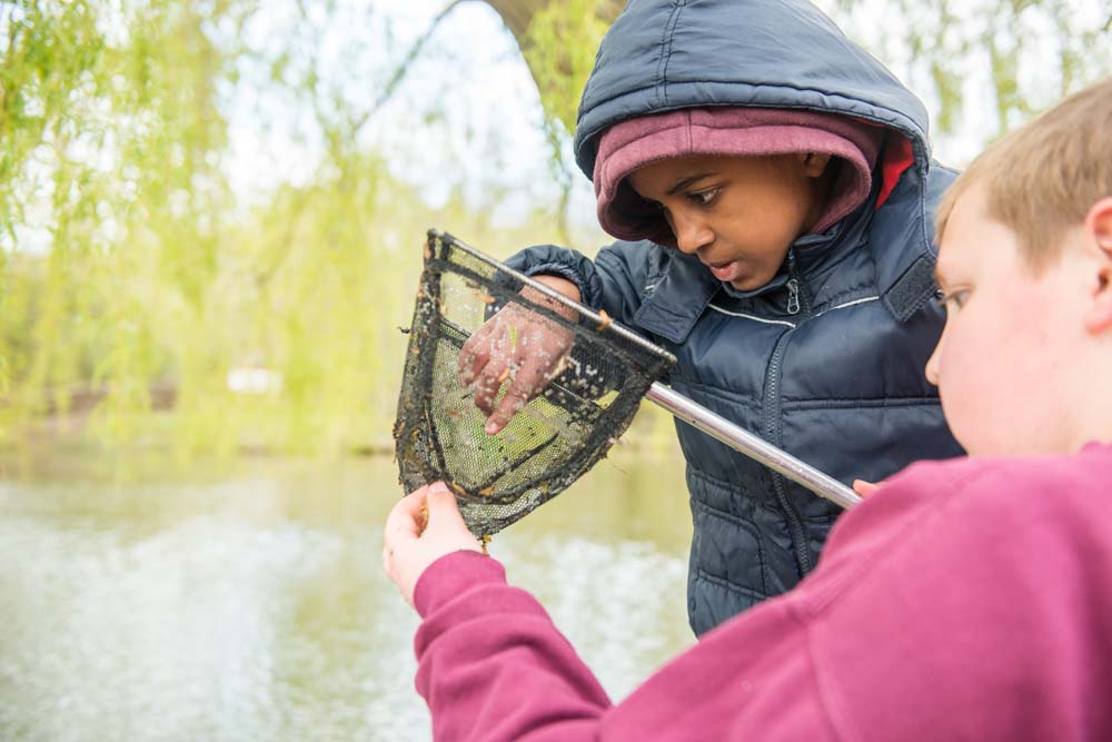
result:
[[[664,248],[651,241],[615,243],[600,249],[594,260],[566,247],[537,245],[506,260],[526,276],[548,274],[570,280],[584,304],[605,309],[623,325],[634,324],[633,316],[666,264]]]

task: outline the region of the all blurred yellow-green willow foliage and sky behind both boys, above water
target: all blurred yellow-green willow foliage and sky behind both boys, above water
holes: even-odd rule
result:
[[[416,23],[398,4],[0,1],[0,443],[388,451],[427,227],[502,256],[602,244],[568,142],[622,3],[429,2]],[[1112,70],[1099,0],[820,4],[924,98],[956,165]],[[499,180],[517,145],[453,102],[464,7],[535,82],[515,105],[538,111],[550,188]],[[240,151],[245,110],[287,132],[290,167]],[[410,177],[429,142],[458,167]]]

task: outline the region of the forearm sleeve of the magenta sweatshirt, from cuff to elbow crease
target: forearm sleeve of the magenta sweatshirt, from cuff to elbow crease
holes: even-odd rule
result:
[[[437,740],[592,739],[610,701],[497,561],[457,552],[421,575],[414,604],[417,691]]]

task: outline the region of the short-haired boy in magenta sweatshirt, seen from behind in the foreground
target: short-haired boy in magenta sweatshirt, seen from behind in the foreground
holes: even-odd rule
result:
[[[384,562],[424,617],[437,739],[1112,739],[1110,130],[1112,79],[990,147],[940,206],[926,374],[972,456],[893,477],[795,590],[622,703],[446,487],[404,498]]]

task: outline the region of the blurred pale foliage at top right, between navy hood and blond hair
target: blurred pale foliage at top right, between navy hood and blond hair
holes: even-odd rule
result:
[[[979,117],[979,138],[991,140],[1112,71],[1112,12],[1101,0],[885,0],[883,14],[865,0],[823,4],[933,99],[945,133],[976,108],[992,112]]]

